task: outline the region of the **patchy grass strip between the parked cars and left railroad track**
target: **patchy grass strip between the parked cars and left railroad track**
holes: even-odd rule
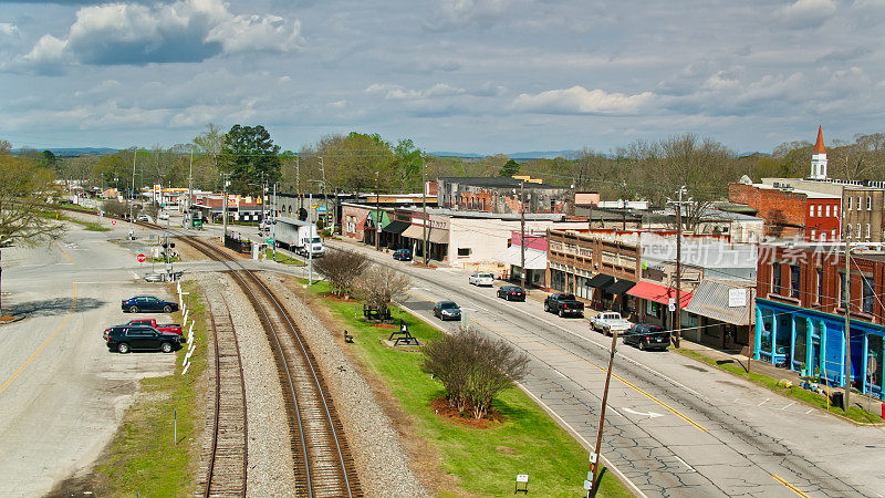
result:
[[[183,347],[176,353],[173,375],[140,381],[139,394],[95,468],[97,496],[180,497],[196,491],[200,458],[197,435],[205,407],[199,382],[195,381],[205,372],[207,359],[201,354],[205,349],[197,351],[192,344],[206,343],[207,315],[198,287],[185,282],[181,288],[190,292],[188,310],[196,323],[188,333],[190,361],[185,364]],[[173,284],[168,289],[176,291]],[[180,312],[176,314],[180,319]]]

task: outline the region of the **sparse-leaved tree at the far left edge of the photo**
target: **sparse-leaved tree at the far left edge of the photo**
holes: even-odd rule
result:
[[[55,194],[52,172],[0,152],[0,248],[33,247],[59,237],[64,227],[48,219],[58,212]]]

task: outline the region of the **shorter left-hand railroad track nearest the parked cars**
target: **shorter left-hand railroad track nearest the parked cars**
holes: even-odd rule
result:
[[[211,417],[212,443],[200,495],[246,496],[249,430],[246,381],[233,320],[223,295],[207,300],[215,338],[215,396]]]

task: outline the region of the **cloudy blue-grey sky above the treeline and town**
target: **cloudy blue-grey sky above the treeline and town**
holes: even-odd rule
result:
[[[514,153],[885,132],[885,0],[0,2],[0,138]]]

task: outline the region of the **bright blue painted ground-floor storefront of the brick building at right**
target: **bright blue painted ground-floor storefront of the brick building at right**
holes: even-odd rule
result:
[[[753,357],[844,385],[845,319],[767,299],[756,300]],[[851,321],[851,378],[882,397],[885,326]]]

